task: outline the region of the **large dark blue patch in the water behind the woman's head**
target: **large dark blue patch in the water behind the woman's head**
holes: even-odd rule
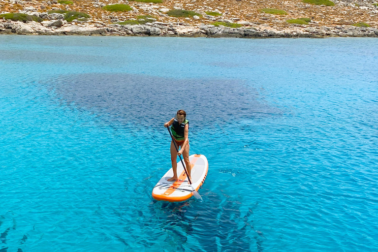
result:
[[[178,109],[194,122],[222,124],[229,119],[280,113],[264,104],[243,80],[173,79],[136,74],[64,75],[46,81],[59,99],[95,111],[115,124],[156,126]],[[185,107],[182,107],[182,106]]]

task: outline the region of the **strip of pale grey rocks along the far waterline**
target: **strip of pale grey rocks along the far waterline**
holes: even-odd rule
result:
[[[64,20],[42,23],[0,20],[0,34],[31,35],[118,35],[118,36],[183,36],[183,37],[378,37],[378,29],[371,27],[334,26],[311,27],[292,25],[287,29],[250,24],[249,27],[229,28],[214,25],[190,25],[183,22],[151,22],[145,25],[76,24]]]

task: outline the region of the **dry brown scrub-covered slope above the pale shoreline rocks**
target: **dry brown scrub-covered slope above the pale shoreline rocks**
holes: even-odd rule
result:
[[[266,24],[271,27],[290,26],[286,21],[291,19],[310,18],[315,26],[352,25],[359,22],[369,24],[371,27],[378,27],[378,6],[376,1],[335,1],[334,6],[314,5],[304,3],[301,0],[163,0],[161,3],[149,3],[138,1],[118,0],[71,0],[72,4],[60,4],[57,1],[22,1],[22,0],[0,0],[0,13],[18,12],[25,7],[35,7],[39,12],[46,12],[51,9],[67,9],[88,13],[92,16],[93,22],[110,23],[113,19],[127,21],[137,19],[140,15],[151,15],[161,22],[174,22],[183,20],[191,25],[211,24],[217,20],[207,16],[205,12],[219,12],[221,20],[233,20],[235,23],[254,22]],[[108,4],[128,4],[133,7],[131,11],[109,12],[101,8]],[[155,7],[154,7],[155,6]],[[147,7],[147,8],[146,8]],[[161,8],[185,10],[200,13],[198,19],[193,17],[169,17]],[[262,11],[264,8],[283,10],[287,15],[274,15]],[[91,21],[91,20],[90,20]]]

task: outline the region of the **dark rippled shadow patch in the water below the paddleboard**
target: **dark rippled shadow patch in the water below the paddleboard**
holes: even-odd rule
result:
[[[206,189],[201,194],[202,203],[153,200],[143,209],[121,213],[124,233],[115,235],[116,239],[126,248],[145,251],[263,252],[265,236],[253,227],[253,208],[258,203],[244,214],[236,198]],[[134,234],[135,225],[144,236]]]

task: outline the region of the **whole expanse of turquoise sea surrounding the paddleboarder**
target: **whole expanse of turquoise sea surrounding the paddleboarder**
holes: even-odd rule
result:
[[[378,250],[377,39],[0,36],[0,252]],[[203,202],[158,202],[190,121]]]

